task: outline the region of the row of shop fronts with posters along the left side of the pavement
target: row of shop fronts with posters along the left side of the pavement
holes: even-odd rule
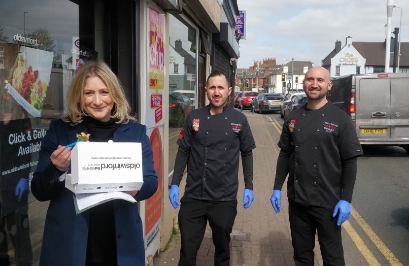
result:
[[[146,257],[164,249],[178,212],[167,197],[176,140],[188,112],[208,103],[204,87],[211,69],[233,77],[237,15],[236,0],[38,0],[29,10],[22,0],[0,1],[0,256],[5,261],[38,265],[49,202],[37,201],[29,188],[21,199],[15,191],[21,179],[30,182],[41,139],[50,121],[67,112],[70,81],[87,60],[111,67],[133,114],[147,127],[159,186],[137,204]],[[30,141],[9,141],[33,133]],[[185,178],[181,192],[184,184]]]

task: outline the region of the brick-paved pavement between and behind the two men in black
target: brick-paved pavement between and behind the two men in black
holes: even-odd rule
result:
[[[231,266],[294,266],[286,184],[282,189],[281,212],[276,214],[270,202],[279,148],[279,131],[271,120],[259,114],[245,112],[257,148],[253,150],[254,201],[246,210],[238,204],[238,214],[231,234]],[[243,171],[239,166],[238,201],[244,191]],[[181,196],[180,196],[181,197]],[[318,243],[316,241],[316,247]],[[169,248],[154,258],[154,266],[176,266],[179,262],[180,235],[174,235]],[[316,248],[315,266],[322,266]],[[214,245],[207,225],[205,237],[197,255],[197,265],[214,265]]]

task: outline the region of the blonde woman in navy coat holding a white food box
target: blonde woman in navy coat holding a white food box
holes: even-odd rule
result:
[[[50,123],[41,143],[31,190],[50,200],[44,225],[40,266],[145,266],[142,221],[137,204],[115,199],[80,214],[65,188],[76,134],[89,141],[141,142],[143,185],[128,191],[136,201],[150,198],[158,180],[146,127],[130,115],[117,76],[103,62],[82,65],[68,89],[68,114]]]

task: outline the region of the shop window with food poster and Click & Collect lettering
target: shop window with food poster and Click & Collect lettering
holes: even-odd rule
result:
[[[39,264],[49,201],[35,200],[29,184],[51,119],[67,111],[78,39],[79,6],[73,1],[0,0],[2,265]],[[10,142],[13,135],[24,136],[24,143]]]

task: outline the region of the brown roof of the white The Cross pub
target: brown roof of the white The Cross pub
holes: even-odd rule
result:
[[[385,66],[386,47],[384,42],[353,41],[352,45],[366,59],[366,66]],[[390,66],[393,65],[393,53],[390,53]],[[330,64],[331,65],[331,61]],[[409,66],[409,42],[401,42],[399,66]]]

